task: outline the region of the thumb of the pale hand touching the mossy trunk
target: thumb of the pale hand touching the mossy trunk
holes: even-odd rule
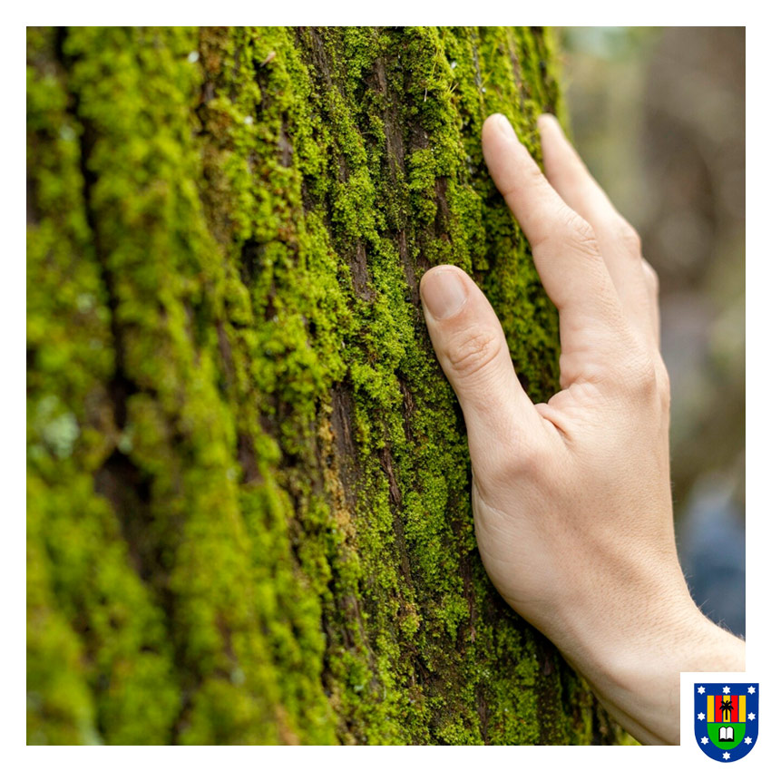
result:
[[[483,448],[497,439],[503,452],[541,418],[514,373],[501,322],[473,280],[460,268],[441,265],[425,273],[420,295],[436,357],[461,403],[469,450],[478,465],[476,448],[489,454]]]

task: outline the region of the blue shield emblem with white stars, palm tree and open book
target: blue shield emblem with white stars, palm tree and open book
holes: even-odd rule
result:
[[[696,683],[693,689],[698,746],[721,763],[746,756],[757,741],[757,683]]]

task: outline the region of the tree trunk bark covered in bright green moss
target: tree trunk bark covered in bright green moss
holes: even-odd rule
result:
[[[28,740],[588,743],[475,551],[417,282],[532,396],[557,320],[484,170],[540,29],[28,33]]]

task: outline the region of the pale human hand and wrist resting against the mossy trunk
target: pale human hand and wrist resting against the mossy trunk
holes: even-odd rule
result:
[[[503,115],[482,142],[560,313],[562,390],[532,404],[460,268],[421,280],[426,324],[463,408],[493,584],[634,737],[677,744],[679,673],[743,671],[745,644],[698,610],[678,562],[656,274],[559,123],[539,128],[545,176]]]

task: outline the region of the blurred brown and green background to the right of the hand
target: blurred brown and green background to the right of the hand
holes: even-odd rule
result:
[[[576,147],[660,279],[678,551],[745,632],[745,30],[564,27]]]

